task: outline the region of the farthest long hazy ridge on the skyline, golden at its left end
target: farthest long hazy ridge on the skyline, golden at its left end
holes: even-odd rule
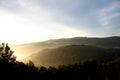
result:
[[[92,45],[105,48],[120,48],[120,37],[74,37],[74,38],[62,38],[52,39],[44,42],[35,42],[22,45],[15,45],[12,48],[16,53],[31,54],[39,52],[46,48],[56,48],[66,45]]]

